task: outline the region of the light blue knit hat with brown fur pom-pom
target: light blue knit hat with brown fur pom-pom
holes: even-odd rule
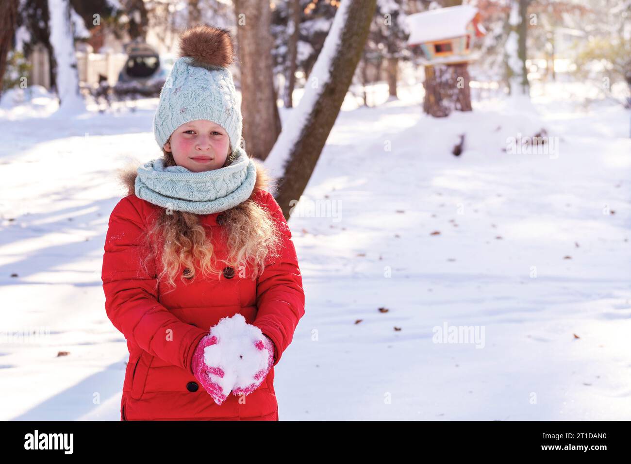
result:
[[[232,152],[241,143],[243,117],[228,66],[234,59],[232,35],[225,29],[199,25],[180,36],[180,57],[168,74],[153,116],[153,134],[160,150],[175,129],[196,119],[219,124]]]

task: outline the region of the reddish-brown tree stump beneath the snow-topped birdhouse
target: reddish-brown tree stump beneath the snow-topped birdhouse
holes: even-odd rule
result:
[[[433,117],[471,111],[470,80],[466,62],[425,66],[423,111]]]

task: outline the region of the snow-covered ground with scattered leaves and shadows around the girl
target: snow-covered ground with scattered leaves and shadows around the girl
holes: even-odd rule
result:
[[[630,115],[584,96],[445,119],[418,87],[349,97],[290,220],[307,305],[275,368],[281,420],[631,419]],[[0,419],[119,420],[103,242],[114,170],[160,154],[156,102],[0,107]],[[545,150],[511,150],[542,127]]]

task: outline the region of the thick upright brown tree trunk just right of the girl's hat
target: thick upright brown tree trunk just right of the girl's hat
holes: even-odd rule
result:
[[[265,160],[280,134],[276,105],[269,2],[235,0],[245,150]]]

